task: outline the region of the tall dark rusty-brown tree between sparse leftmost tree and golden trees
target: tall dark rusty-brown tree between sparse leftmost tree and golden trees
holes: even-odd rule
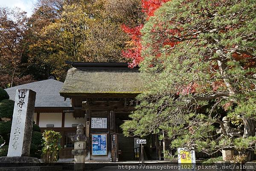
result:
[[[47,38],[42,33],[44,27],[56,22],[62,10],[62,0],[41,0],[28,18],[26,35],[23,38],[23,72],[32,74],[36,80],[48,79],[53,65],[49,62],[51,49],[47,46]]]

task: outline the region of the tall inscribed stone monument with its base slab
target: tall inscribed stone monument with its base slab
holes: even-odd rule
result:
[[[39,162],[29,157],[35,96],[36,93],[29,89],[16,91],[8,154],[0,157],[0,162]]]

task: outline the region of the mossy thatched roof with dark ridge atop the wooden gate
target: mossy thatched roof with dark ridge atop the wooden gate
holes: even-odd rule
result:
[[[73,64],[73,63],[72,63]],[[80,65],[79,65],[80,64]],[[143,91],[141,73],[137,69],[93,65],[91,63],[73,64],[68,70],[66,80],[60,90],[61,96],[84,94],[139,94]],[[83,65],[87,64],[87,65]],[[95,63],[96,64],[96,63]],[[102,64],[102,63],[100,63]]]

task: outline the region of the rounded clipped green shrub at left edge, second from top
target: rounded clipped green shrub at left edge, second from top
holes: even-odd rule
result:
[[[0,118],[12,118],[14,103],[15,102],[10,99],[0,102]]]

